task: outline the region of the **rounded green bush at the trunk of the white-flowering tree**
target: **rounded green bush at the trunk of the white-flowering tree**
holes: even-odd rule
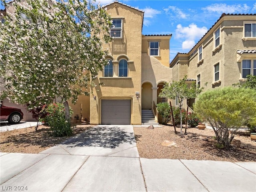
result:
[[[65,108],[62,103],[53,103],[43,108],[47,115],[40,120],[50,126],[51,134],[53,136],[62,137],[70,136],[72,134],[71,124],[65,118]],[[72,110],[70,108],[70,116]]]

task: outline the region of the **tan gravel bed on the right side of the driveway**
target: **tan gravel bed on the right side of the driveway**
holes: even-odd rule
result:
[[[245,133],[235,136],[236,140],[241,141],[240,147],[234,146],[226,150],[216,147],[217,142],[212,129],[188,128],[188,134],[181,138],[180,135],[174,133],[172,126],[161,126],[161,128],[155,127],[154,129],[134,127],[140,157],[231,162],[256,161],[256,142],[251,141],[250,136],[246,136]],[[176,128],[176,130],[180,132],[180,128]],[[161,143],[164,140],[175,142],[177,147],[162,146]]]

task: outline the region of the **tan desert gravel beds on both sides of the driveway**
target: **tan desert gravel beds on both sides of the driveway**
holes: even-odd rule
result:
[[[250,140],[250,135],[240,133],[235,136],[240,140],[240,146],[230,149],[216,147],[214,131],[211,129],[199,130],[188,128],[187,135],[183,138],[174,133],[174,128],[168,125],[162,127],[134,127],[138,152],[142,158],[167,158],[167,159],[194,159],[194,160],[221,160],[221,161],[256,161],[256,142]],[[90,125],[79,124],[74,130],[74,135],[80,134]],[[180,128],[177,128],[180,132]],[[184,133],[184,128],[183,128]],[[54,145],[60,144],[69,137],[53,137],[48,134],[49,127],[41,125],[35,132],[34,127],[23,128],[7,132],[0,132],[0,152],[14,153],[39,153]],[[175,146],[162,146],[168,140],[175,142]]]

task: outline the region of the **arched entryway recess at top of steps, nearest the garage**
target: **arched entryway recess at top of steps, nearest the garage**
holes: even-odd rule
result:
[[[142,84],[142,109],[152,109],[152,84],[146,82]]]

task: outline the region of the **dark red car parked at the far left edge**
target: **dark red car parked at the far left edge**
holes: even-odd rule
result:
[[[23,119],[23,113],[19,108],[0,106],[0,121],[8,121],[10,124],[19,123]]]

